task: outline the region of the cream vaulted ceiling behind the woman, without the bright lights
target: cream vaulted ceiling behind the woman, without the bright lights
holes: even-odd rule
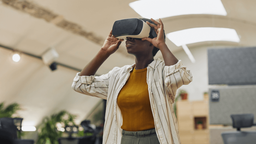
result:
[[[98,53],[116,20],[138,18],[130,6],[135,0],[0,0],[0,102],[17,102],[24,118],[23,126],[37,126],[44,116],[60,110],[78,115],[79,124],[101,99],[76,93],[71,88],[73,78]],[[157,0],[156,0],[157,2]],[[240,42],[208,41],[188,44],[255,46],[256,1],[222,0],[226,16],[193,14],[162,18],[166,33],[188,28],[218,27],[235,29]],[[155,7],[156,13],[161,7]],[[172,52],[183,50],[169,39]],[[6,49],[7,47],[9,49]],[[57,70],[51,71],[40,58],[54,47],[59,54]],[[20,54],[14,62],[12,55]],[[162,59],[158,52],[156,57]],[[133,64],[123,42],[99,68],[97,75],[113,67]]]

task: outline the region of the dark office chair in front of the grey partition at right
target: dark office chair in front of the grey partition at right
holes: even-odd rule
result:
[[[241,128],[252,127],[254,124],[254,114],[231,115],[233,127],[237,131],[223,132],[224,144],[255,144],[256,131],[241,131]]]

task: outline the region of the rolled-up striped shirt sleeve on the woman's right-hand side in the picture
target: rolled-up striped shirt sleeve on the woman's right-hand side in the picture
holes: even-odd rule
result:
[[[181,60],[175,65],[164,66],[163,76],[164,83],[172,102],[175,100],[177,89],[182,85],[188,85],[193,80],[191,71],[183,66]]]

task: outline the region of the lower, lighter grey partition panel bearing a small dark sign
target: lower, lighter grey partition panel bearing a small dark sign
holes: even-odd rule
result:
[[[212,101],[212,91],[219,92],[219,100]],[[256,85],[219,86],[209,89],[210,124],[232,125],[231,114],[253,113],[256,123]]]

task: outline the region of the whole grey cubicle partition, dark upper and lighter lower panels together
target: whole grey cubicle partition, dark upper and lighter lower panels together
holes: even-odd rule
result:
[[[210,124],[231,125],[231,114],[256,118],[256,47],[208,48],[208,77],[217,85],[209,89]]]

